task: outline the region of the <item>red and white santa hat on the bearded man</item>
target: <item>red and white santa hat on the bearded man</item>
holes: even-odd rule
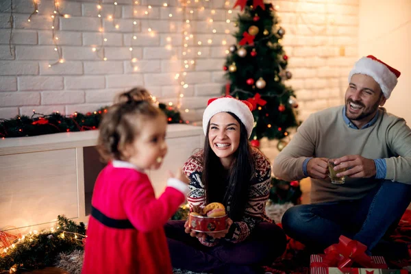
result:
[[[358,73],[373,77],[386,99],[390,98],[391,92],[397,85],[397,78],[401,75],[399,71],[373,55],[363,57],[354,64],[353,69],[349,72],[348,82],[351,82],[351,77]]]

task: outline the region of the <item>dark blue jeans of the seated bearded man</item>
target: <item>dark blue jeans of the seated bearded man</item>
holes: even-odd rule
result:
[[[325,249],[345,235],[373,251],[410,201],[411,185],[384,180],[362,199],[289,208],[282,225],[288,236],[313,250]]]

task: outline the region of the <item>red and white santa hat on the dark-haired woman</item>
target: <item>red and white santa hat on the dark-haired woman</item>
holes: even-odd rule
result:
[[[207,108],[203,113],[203,131],[204,135],[207,134],[208,123],[212,116],[220,112],[232,112],[236,114],[238,119],[245,125],[247,129],[248,138],[251,136],[251,132],[254,127],[254,117],[251,113],[253,105],[248,101],[241,101],[231,96],[212,98],[208,100]]]

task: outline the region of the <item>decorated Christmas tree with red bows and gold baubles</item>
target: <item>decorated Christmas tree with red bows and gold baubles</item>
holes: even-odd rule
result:
[[[280,44],[285,31],[278,25],[272,4],[262,0],[238,0],[244,12],[238,14],[236,45],[223,69],[229,86],[226,95],[247,100],[253,105],[256,121],[251,144],[258,147],[263,137],[280,140],[287,129],[297,126],[294,92],[284,84],[291,73],[286,70],[288,56]]]

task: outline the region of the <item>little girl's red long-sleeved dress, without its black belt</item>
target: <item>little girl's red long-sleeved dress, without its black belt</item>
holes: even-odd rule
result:
[[[128,220],[131,227],[108,227],[90,216],[82,273],[173,273],[163,226],[184,198],[168,186],[156,199],[147,174],[105,166],[92,206],[109,219]]]

